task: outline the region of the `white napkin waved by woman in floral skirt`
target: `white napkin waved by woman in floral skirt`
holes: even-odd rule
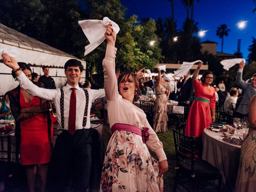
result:
[[[98,47],[105,40],[105,32],[108,24],[112,24],[116,34],[119,32],[120,28],[118,24],[104,17],[103,20],[81,20],[78,24],[82,28],[85,36],[89,40],[90,44],[85,46],[84,56],[92,52],[96,47]]]

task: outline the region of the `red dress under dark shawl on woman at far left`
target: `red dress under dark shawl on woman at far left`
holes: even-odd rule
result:
[[[32,97],[32,101],[26,103],[20,91],[21,108],[34,107],[40,104],[40,99],[36,97]],[[31,165],[50,162],[51,151],[46,115],[41,113],[32,118],[23,120],[20,125],[20,130],[20,163],[22,165]],[[53,133],[53,131],[51,132]]]

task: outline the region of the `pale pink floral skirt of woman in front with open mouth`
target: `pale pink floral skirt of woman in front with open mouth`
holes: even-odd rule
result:
[[[142,137],[117,130],[108,143],[102,169],[101,192],[162,192],[158,161],[151,157]]]

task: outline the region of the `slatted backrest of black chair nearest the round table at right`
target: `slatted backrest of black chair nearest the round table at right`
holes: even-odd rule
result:
[[[191,176],[195,175],[195,137],[186,136],[178,129],[173,129],[174,146],[176,151],[176,169],[180,161],[190,166]]]

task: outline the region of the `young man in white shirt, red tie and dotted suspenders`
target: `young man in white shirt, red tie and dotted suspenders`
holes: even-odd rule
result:
[[[86,191],[92,162],[90,108],[92,100],[105,96],[104,89],[84,91],[78,86],[83,66],[76,59],[68,60],[64,66],[67,84],[62,91],[39,88],[26,77],[14,58],[8,54],[2,57],[4,64],[15,72],[22,88],[32,96],[55,103],[58,123],[63,130],[56,139],[52,157],[56,169],[54,191],[70,191],[71,186],[76,192]]]

